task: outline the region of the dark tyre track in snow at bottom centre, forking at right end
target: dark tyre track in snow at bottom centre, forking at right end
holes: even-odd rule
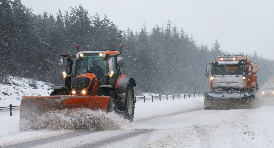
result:
[[[124,134],[121,134],[121,135],[108,137],[108,138],[105,138],[105,139],[102,139],[102,140],[97,140],[97,141],[94,141],[94,142],[91,142],[91,143],[86,143],[86,144],[79,145],[79,146],[76,146],[76,147],[73,147],[73,148],[101,147],[101,146],[104,146],[104,145],[109,144],[109,143],[114,143],[114,142],[122,141],[124,139],[132,138],[132,137],[135,137],[135,136],[138,136],[138,135],[141,135],[141,134],[145,134],[144,137],[138,143],[138,145],[140,147],[142,147],[143,144],[148,141],[148,139],[152,135],[153,131],[155,131],[155,130],[147,130],[147,129],[136,130],[136,131],[124,133]],[[144,139],[147,138],[147,137],[148,137],[148,139],[146,139],[146,141],[144,141]]]

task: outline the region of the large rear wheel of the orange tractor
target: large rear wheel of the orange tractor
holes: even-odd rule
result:
[[[129,86],[128,90],[126,91],[125,102],[126,103],[124,106],[124,118],[132,122],[134,117],[134,109],[135,109],[134,91],[132,86]]]

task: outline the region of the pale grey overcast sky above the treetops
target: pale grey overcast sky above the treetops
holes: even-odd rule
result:
[[[89,15],[98,13],[113,21],[118,29],[140,31],[144,21],[166,25],[168,19],[178,30],[192,33],[198,44],[211,47],[216,38],[223,51],[257,52],[274,60],[274,0],[21,0],[33,13],[44,11],[56,16],[81,4]]]

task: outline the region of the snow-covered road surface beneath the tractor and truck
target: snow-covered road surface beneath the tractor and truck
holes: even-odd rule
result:
[[[273,98],[274,100],[274,98]],[[19,131],[19,110],[0,112],[1,147],[273,147],[272,98],[254,109],[204,110],[203,97],[138,100],[115,130]],[[121,121],[121,119],[113,119]]]

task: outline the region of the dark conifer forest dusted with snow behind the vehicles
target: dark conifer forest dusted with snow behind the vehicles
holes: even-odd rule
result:
[[[80,45],[79,51],[119,51],[119,44],[124,44],[122,72],[136,80],[136,93],[204,92],[209,81],[207,64],[225,54],[245,55],[255,62],[260,67],[259,85],[274,72],[274,61],[256,51],[231,53],[217,38],[214,43],[196,41],[195,34],[187,33],[191,30],[172,20],[149,26],[152,29],[140,22],[143,27],[139,31],[130,27],[119,30],[107,14],[89,14],[82,5],[68,9],[55,15],[47,10],[33,14],[20,0],[0,0],[0,81],[11,75],[62,85],[66,66],[59,68],[59,55],[75,55],[76,45]]]

